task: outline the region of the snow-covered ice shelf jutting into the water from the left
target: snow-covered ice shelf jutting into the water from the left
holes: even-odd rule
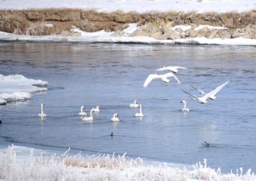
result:
[[[35,92],[46,91],[48,83],[42,80],[26,78],[23,75],[0,74],[0,104],[9,101],[21,101],[31,98]]]

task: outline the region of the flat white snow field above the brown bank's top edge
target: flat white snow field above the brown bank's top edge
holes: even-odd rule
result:
[[[85,10],[117,11],[205,11],[230,12],[250,11],[256,9],[255,0],[0,0],[0,9],[24,10],[30,8],[82,8]]]

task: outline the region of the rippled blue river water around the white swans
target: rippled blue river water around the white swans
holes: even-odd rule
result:
[[[141,45],[111,43],[0,43],[0,74],[48,81],[33,99],[0,106],[0,136],[16,144],[71,147],[95,153],[127,153],[177,164],[204,158],[211,168],[256,171],[256,74],[253,46]],[[161,66],[184,66],[169,83],[149,74]],[[162,72],[163,74],[165,72]],[[216,100],[199,104],[198,95],[229,80]],[[0,87],[1,88],[1,87]],[[130,109],[134,100],[142,104]],[[182,100],[190,112],[183,113]],[[45,103],[47,117],[37,117]],[[100,106],[94,121],[82,121]],[[111,122],[117,112],[120,122]],[[111,132],[115,136],[107,136]],[[203,142],[210,142],[205,147]]]

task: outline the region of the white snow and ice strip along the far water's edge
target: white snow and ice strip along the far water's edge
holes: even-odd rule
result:
[[[81,32],[77,31],[77,32]],[[111,36],[112,33],[98,31],[95,33],[83,32],[82,36],[28,36],[0,32],[0,41],[28,41],[28,42],[89,42],[89,43],[162,43],[162,44],[199,44],[199,45],[256,45],[256,39],[237,37],[234,39],[207,39],[194,37],[187,39],[159,40],[147,36]]]

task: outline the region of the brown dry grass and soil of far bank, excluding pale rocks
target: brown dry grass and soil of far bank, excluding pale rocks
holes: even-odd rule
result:
[[[124,25],[138,23],[140,25],[152,23],[157,26],[162,23],[173,22],[179,24],[205,24],[223,26],[231,29],[243,28],[255,24],[256,10],[238,13],[206,12],[198,14],[194,11],[158,12],[149,11],[138,13],[130,11],[114,11],[103,13],[96,10],[82,10],[79,8],[48,8],[29,10],[0,10],[0,31],[15,34],[48,35],[69,31],[72,25],[84,31],[123,30]],[[54,24],[54,28],[45,27],[42,23]]]

